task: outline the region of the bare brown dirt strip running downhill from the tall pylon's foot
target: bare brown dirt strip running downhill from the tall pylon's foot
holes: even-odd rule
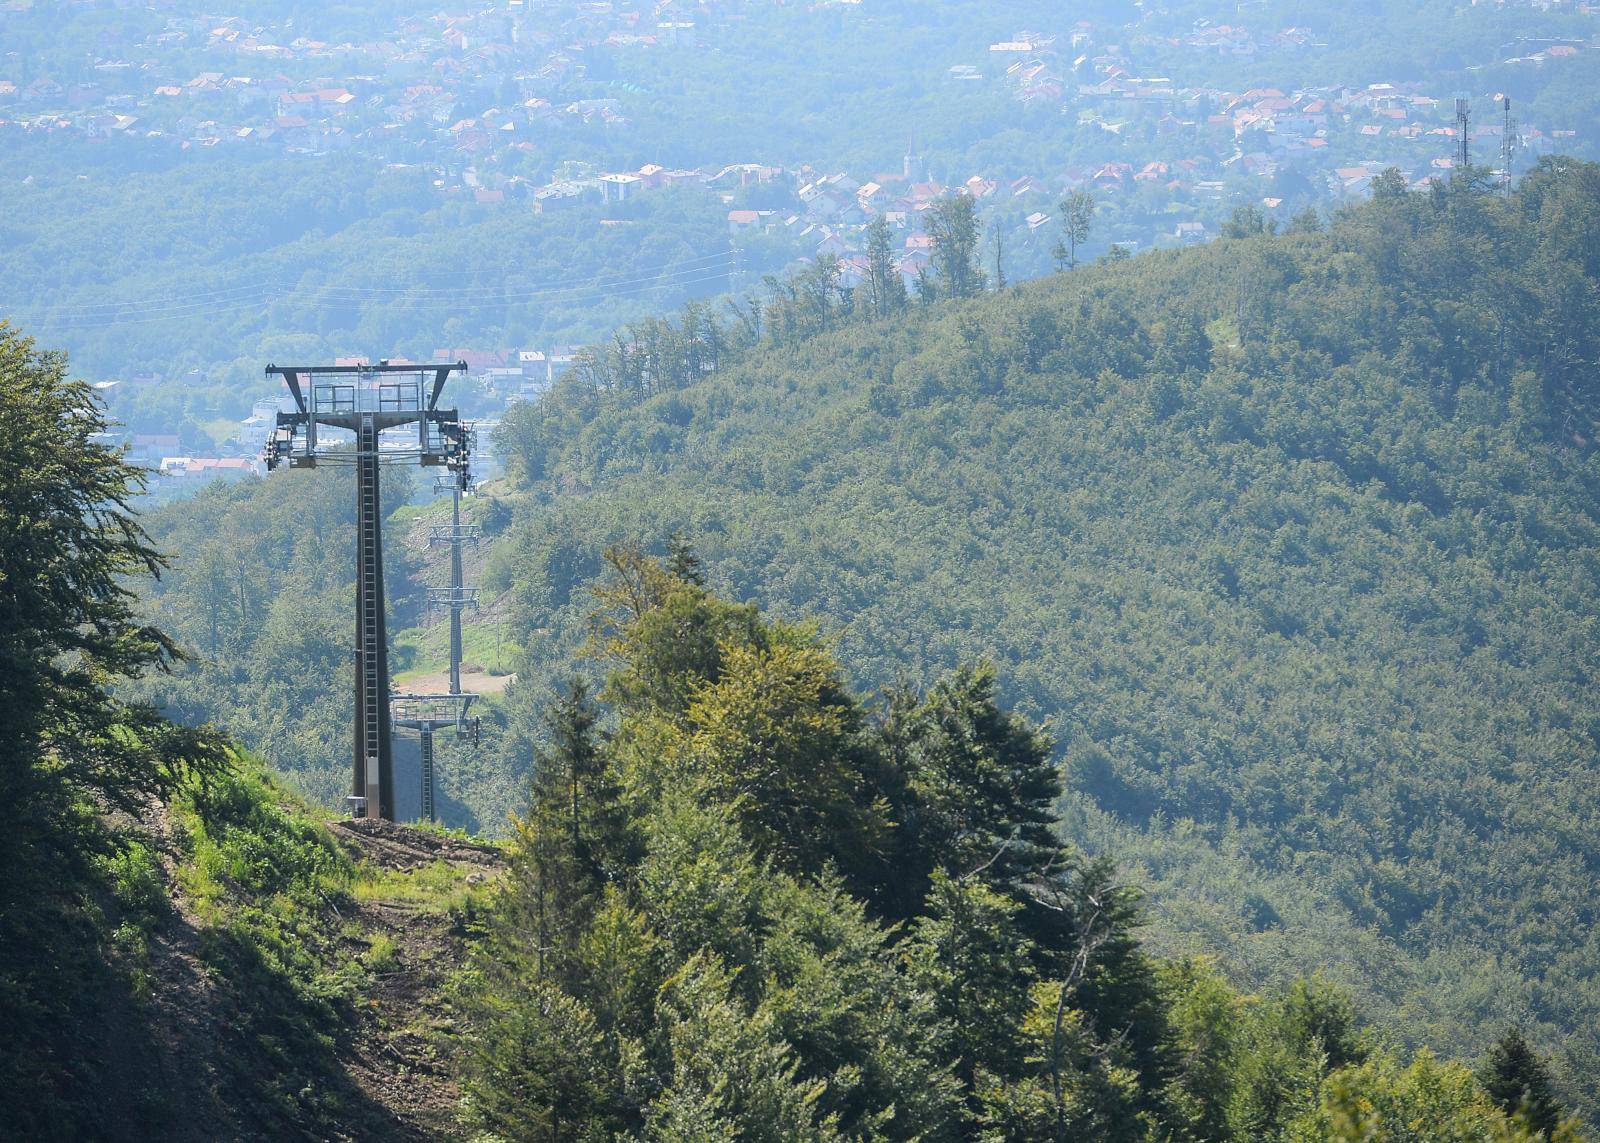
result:
[[[334,836],[352,856],[392,874],[414,876],[438,861],[464,874],[467,885],[491,879],[501,855],[478,845],[390,821],[339,821]],[[387,938],[394,952],[374,965],[360,1026],[346,1058],[357,1087],[392,1119],[384,1138],[437,1140],[454,1127],[461,1092],[440,1058],[438,1041],[453,1031],[443,996],[450,973],[466,954],[459,917],[405,896],[366,896],[355,903],[366,940]]]

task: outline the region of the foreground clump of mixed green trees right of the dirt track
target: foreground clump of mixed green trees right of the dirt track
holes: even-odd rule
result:
[[[1150,957],[1138,893],[1053,828],[1050,741],[992,668],[867,709],[814,628],[717,599],[686,546],[606,563],[613,717],[581,680],[546,706],[464,981],[467,1117],[491,1137],[1571,1130],[1515,1034],[1480,1087],[1381,1049],[1320,980],[1246,997]]]

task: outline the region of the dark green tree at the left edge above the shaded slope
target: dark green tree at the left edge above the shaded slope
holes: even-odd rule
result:
[[[131,580],[165,563],[128,507],[142,474],[99,443],[106,415],[66,357],[5,323],[0,421],[0,802],[134,808],[186,764],[221,762],[214,743],[106,692],[179,658],[136,612]]]

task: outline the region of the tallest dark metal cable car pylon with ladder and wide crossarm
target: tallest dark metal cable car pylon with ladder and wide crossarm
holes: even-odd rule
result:
[[[389,711],[389,644],[384,629],[384,546],[379,469],[422,464],[469,480],[467,429],[456,410],[438,408],[454,365],[269,365],[294,397],[267,440],[267,469],[355,467],[355,765],[350,812],[394,821],[394,751]],[[414,435],[398,429],[416,426]],[[322,439],[322,429],[355,435]]]

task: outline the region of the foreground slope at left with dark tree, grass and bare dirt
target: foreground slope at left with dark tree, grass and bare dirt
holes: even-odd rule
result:
[[[179,658],[133,610],[138,472],[5,325],[0,418],[0,1138],[438,1138],[442,983],[498,855],[330,828],[109,693]]]

